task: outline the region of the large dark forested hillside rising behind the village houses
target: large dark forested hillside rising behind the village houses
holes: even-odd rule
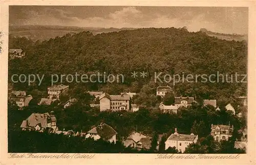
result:
[[[203,32],[188,32],[185,28],[147,28],[93,35],[91,32],[67,34],[42,43],[26,38],[10,38],[9,46],[23,48],[24,59],[9,61],[12,74],[45,74],[41,86],[46,90],[51,74],[88,74],[106,72],[123,74],[123,84],[71,83],[89,90],[101,89],[110,93],[124,88],[139,92],[143,85],[155,88],[155,72],[168,74],[224,75],[247,73],[247,43],[209,37]],[[148,73],[147,78],[131,78],[131,72]],[[233,78],[234,79],[234,78]],[[10,80],[10,79],[9,79]],[[172,85],[170,83],[169,85]],[[16,84],[16,88],[27,88]],[[115,88],[113,90],[113,88]],[[229,99],[246,95],[246,83],[177,83],[176,95]],[[154,93],[155,91],[153,91]]]

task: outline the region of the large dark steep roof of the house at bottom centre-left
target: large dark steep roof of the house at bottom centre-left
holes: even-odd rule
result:
[[[93,129],[91,129],[87,133],[96,133],[103,139],[109,139],[112,136],[117,134],[117,132],[111,126],[109,126],[107,124],[101,124]]]

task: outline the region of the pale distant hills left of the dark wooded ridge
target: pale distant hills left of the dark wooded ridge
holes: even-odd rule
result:
[[[69,26],[9,26],[9,34],[12,37],[26,37],[33,41],[48,40],[68,33],[75,34],[82,31],[90,31],[93,35],[100,33],[119,32],[122,30],[134,30],[134,28],[94,28],[94,27],[69,27]]]

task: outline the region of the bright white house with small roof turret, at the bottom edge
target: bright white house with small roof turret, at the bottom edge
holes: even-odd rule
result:
[[[171,134],[165,142],[165,150],[169,147],[175,147],[179,152],[183,153],[189,144],[197,143],[198,135],[191,133],[179,134],[175,128],[175,133]]]

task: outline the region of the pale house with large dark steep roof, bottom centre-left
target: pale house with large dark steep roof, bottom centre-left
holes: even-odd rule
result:
[[[86,138],[93,138],[94,140],[98,140],[100,138],[116,143],[116,135],[117,132],[109,125],[101,123],[97,127],[94,127],[90,131],[87,132]]]

